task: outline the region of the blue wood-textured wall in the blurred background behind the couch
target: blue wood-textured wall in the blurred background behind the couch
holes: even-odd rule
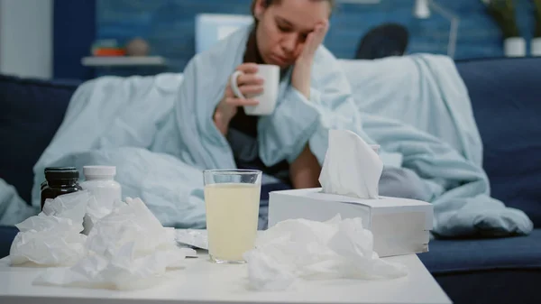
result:
[[[120,42],[142,37],[152,53],[168,58],[180,71],[195,50],[195,15],[248,14],[249,0],[97,0],[96,35]],[[515,0],[521,33],[532,36],[530,0]],[[460,17],[455,59],[503,56],[500,30],[480,0],[436,0]],[[339,58],[352,58],[363,34],[385,22],[402,23],[411,34],[408,52],[445,54],[450,23],[433,12],[427,20],[413,17],[414,0],[381,0],[378,5],[338,5],[326,46]]]

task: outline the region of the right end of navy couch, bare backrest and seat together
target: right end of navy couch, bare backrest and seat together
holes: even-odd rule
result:
[[[527,213],[531,235],[436,240],[419,254],[455,303],[541,303],[541,58],[467,60],[492,196]]]

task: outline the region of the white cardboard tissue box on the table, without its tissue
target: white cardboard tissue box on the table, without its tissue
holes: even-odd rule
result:
[[[406,198],[361,199],[321,193],[321,189],[271,192],[269,227],[296,218],[326,221],[361,217],[374,236],[374,251],[381,257],[425,253],[434,209],[432,204]]]

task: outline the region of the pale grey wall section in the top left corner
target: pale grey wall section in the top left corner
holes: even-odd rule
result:
[[[0,0],[0,72],[52,77],[52,2]]]

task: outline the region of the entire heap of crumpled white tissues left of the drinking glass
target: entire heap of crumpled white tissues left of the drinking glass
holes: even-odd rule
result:
[[[66,266],[47,269],[34,284],[135,290],[160,284],[167,279],[168,270],[182,267],[188,256],[197,257],[195,250],[177,246],[174,228],[161,226],[140,198],[115,202],[112,211],[97,219],[88,235],[80,234],[92,199],[94,196],[81,191],[48,201],[39,216],[19,225],[24,232],[17,235],[24,238],[32,232],[32,241],[40,246],[14,243],[11,263],[32,258],[41,265]],[[69,237],[62,238],[62,234]],[[77,242],[69,243],[73,239]],[[63,246],[55,247],[57,243]]]

